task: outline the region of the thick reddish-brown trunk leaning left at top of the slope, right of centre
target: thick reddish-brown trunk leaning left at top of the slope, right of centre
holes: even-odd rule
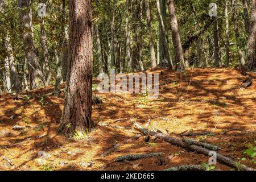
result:
[[[183,57],[183,50],[180,41],[179,26],[176,18],[175,2],[174,0],[168,1],[170,23],[172,30],[172,42],[174,43],[175,62],[181,71],[185,70],[185,62]]]

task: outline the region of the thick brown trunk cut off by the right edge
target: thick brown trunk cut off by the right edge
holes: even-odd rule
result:
[[[256,0],[251,1],[250,31],[247,43],[246,65],[247,71],[256,71]]]

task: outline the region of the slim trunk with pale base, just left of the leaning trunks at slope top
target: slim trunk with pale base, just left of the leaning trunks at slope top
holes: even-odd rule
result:
[[[155,60],[154,40],[153,40],[152,27],[151,27],[151,15],[150,15],[149,0],[145,0],[145,7],[146,7],[146,16],[147,16],[147,29],[148,29],[149,39],[150,39],[151,64],[152,64],[152,68],[154,68],[154,67],[156,67],[156,60]]]

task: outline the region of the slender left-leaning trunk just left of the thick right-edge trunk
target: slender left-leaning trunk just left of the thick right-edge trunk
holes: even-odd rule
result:
[[[243,66],[245,65],[245,59],[243,58],[243,53],[240,46],[240,34],[239,34],[239,29],[237,24],[237,10],[235,7],[235,0],[231,0],[231,4],[232,4],[232,10],[233,10],[234,32],[236,34],[237,50],[238,50],[238,55],[240,59],[240,64]]]

